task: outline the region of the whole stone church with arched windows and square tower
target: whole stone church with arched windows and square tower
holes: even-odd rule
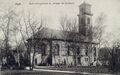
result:
[[[83,2],[79,6],[78,32],[43,28],[37,32],[34,65],[90,66],[98,57],[97,43],[92,37],[91,5]],[[63,35],[66,34],[66,35]],[[33,53],[30,54],[31,60]]]

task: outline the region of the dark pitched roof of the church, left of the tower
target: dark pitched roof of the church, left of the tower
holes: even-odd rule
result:
[[[90,42],[85,40],[85,36],[79,32],[61,31],[49,28],[43,28],[34,35],[35,39],[53,39],[53,40],[67,40],[76,42]],[[30,38],[29,38],[30,39]]]

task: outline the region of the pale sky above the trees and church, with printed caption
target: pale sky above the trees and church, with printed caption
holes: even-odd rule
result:
[[[78,6],[84,1],[92,5],[92,24],[94,25],[94,21],[100,13],[104,13],[106,15],[105,31],[110,33],[110,36],[114,34],[117,38],[120,28],[120,0],[0,0],[0,12],[8,8],[14,8],[19,12],[29,11],[38,18],[44,17],[47,27],[59,29],[60,16],[67,15],[77,18]]]

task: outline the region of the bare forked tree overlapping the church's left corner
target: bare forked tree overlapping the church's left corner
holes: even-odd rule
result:
[[[45,25],[45,21],[41,17],[41,20],[35,18],[35,16],[31,15],[30,13],[26,16],[25,14],[20,18],[19,26],[20,26],[20,33],[23,40],[23,43],[25,44],[28,54],[30,56],[30,52],[33,52],[32,56],[32,62],[30,69],[33,70],[34,67],[34,58],[35,58],[35,52],[36,52],[36,44],[38,43],[35,40],[35,35],[37,32],[40,32]],[[30,38],[31,42],[28,43],[27,39]],[[32,48],[31,48],[32,47]]]

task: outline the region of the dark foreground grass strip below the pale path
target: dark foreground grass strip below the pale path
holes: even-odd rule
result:
[[[81,73],[66,73],[66,72],[48,72],[48,71],[2,71],[1,75],[89,75]]]

